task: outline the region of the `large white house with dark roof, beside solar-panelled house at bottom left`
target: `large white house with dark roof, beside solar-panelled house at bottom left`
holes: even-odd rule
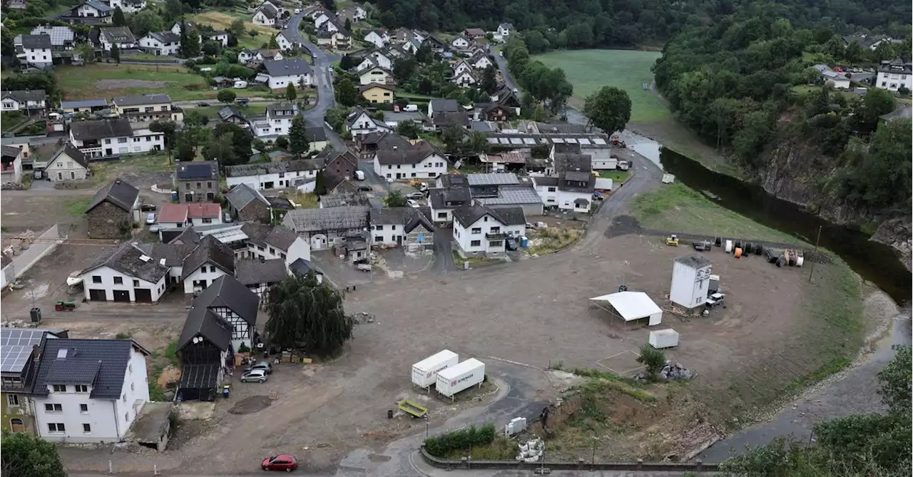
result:
[[[38,436],[123,441],[150,399],[149,355],[131,339],[46,339],[31,396]]]

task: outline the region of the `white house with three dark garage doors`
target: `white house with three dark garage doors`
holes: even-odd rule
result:
[[[79,275],[89,301],[156,303],[165,293],[168,272],[168,266],[128,242],[102,254]]]

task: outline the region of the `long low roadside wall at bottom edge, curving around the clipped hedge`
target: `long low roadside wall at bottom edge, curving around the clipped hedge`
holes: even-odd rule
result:
[[[582,459],[576,462],[521,462],[521,461],[474,461],[461,459],[453,461],[438,459],[421,449],[422,458],[429,465],[447,471],[460,469],[498,469],[511,471],[535,471],[540,468],[551,471],[639,471],[639,472],[719,472],[719,464],[693,462],[595,462],[586,463]]]

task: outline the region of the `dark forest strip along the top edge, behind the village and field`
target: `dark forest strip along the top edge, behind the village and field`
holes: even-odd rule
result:
[[[829,27],[841,33],[877,29],[901,36],[913,23],[913,5],[892,0],[371,0],[384,26],[458,31],[470,26],[494,30],[511,22],[536,31],[530,52],[552,48],[659,44],[688,26],[737,15],[769,12],[795,26]],[[539,41],[539,40],[542,41]]]

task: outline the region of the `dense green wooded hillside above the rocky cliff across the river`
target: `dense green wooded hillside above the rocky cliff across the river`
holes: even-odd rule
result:
[[[765,13],[677,36],[654,71],[677,118],[749,171],[766,166],[771,144],[801,138],[832,158],[819,171],[833,171],[829,180],[813,184],[822,192],[869,213],[907,213],[913,211],[913,122],[879,124],[896,107],[891,93],[837,91],[812,67],[873,64],[895,54],[913,57],[913,37],[872,52],[845,47],[832,30],[795,29]]]

